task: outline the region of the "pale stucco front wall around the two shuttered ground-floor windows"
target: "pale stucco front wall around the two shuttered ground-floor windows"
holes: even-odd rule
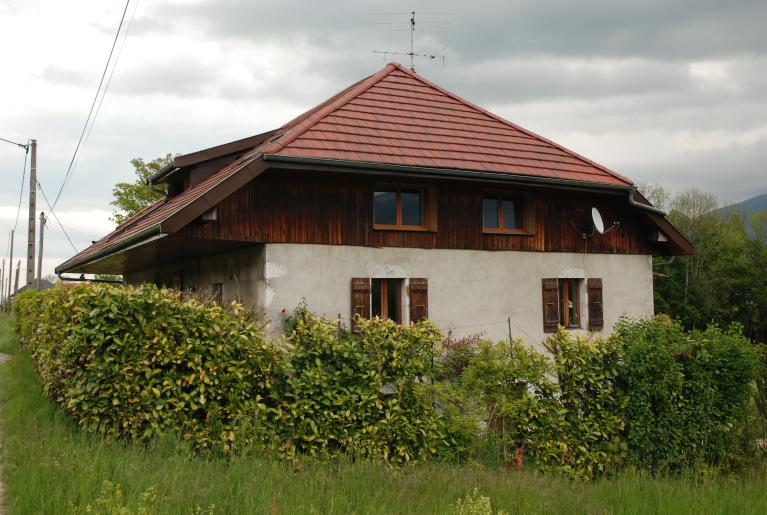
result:
[[[514,337],[539,343],[546,337],[545,277],[602,278],[604,333],[621,315],[653,313],[652,258],[646,255],[267,244],[260,300],[272,330],[279,330],[282,309],[304,299],[316,313],[348,318],[352,277],[428,278],[429,318],[456,335],[505,338],[510,317]],[[585,327],[585,288],[580,296]]]

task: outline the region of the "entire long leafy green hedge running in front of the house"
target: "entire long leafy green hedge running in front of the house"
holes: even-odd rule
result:
[[[561,331],[544,355],[443,340],[429,322],[350,332],[303,307],[268,341],[236,305],[154,286],[57,287],[14,309],[46,393],[110,438],[175,432],[202,450],[392,463],[500,444],[506,465],[521,448],[581,479],[733,468],[754,447],[758,358],[737,326],[624,320],[607,339]]]

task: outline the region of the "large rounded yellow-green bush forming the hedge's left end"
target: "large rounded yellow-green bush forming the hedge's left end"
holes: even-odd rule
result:
[[[252,441],[266,419],[279,353],[253,322],[152,285],[57,287],[19,298],[22,343],[46,392],[89,431],[198,449]]]

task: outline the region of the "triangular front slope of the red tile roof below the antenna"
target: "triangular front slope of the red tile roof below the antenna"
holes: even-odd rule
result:
[[[264,154],[447,168],[631,186],[397,63],[283,127]]]

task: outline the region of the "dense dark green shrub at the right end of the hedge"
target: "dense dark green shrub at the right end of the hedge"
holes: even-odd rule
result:
[[[737,325],[685,333],[662,319],[624,320],[626,440],[632,465],[653,471],[738,464],[747,450],[757,355]]]

